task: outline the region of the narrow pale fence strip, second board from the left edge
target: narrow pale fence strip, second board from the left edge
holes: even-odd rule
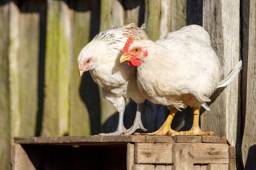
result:
[[[11,141],[20,135],[20,78],[19,78],[19,49],[20,49],[20,9],[10,2],[10,46],[9,46],[9,80],[10,80],[10,116]]]

